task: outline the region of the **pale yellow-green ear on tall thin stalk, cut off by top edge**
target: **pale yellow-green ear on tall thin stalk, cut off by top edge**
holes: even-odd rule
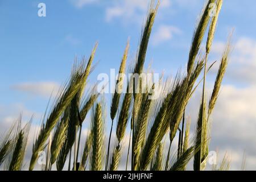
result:
[[[216,14],[212,17],[212,22],[210,22],[209,32],[208,32],[208,38],[207,38],[207,46],[206,46],[206,53],[210,52],[210,48],[212,47],[212,42],[218,22],[218,15],[220,14],[221,6],[223,0],[216,0]]]

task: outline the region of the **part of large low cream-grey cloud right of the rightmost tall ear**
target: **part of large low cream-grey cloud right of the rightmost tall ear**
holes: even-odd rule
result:
[[[240,152],[240,160],[233,161],[234,167],[241,166],[243,150],[249,158],[256,158],[255,103],[255,86],[236,88],[225,85],[213,113],[213,146]],[[247,160],[247,164],[250,169],[255,169],[256,160]]]

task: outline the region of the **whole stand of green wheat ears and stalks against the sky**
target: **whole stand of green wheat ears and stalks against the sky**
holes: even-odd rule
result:
[[[148,10],[133,68],[128,69],[126,64],[128,41],[119,73],[126,73],[127,70],[133,74],[148,72],[144,68],[144,61],[159,3],[152,3]],[[217,8],[211,15],[213,3]],[[86,89],[88,77],[94,68],[96,43],[89,59],[74,63],[69,80],[58,96],[51,98],[54,104],[47,109],[39,131],[30,130],[32,120],[22,126],[20,117],[11,129],[1,134],[0,167],[10,171],[27,170],[23,160],[27,152],[28,134],[35,133],[29,170],[35,168],[42,154],[46,154],[45,162],[40,164],[44,171],[116,171],[122,156],[126,159],[126,170],[183,171],[189,162],[193,163],[193,170],[204,170],[209,154],[210,118],[230,55],[231,36],[220,59],[214,63],[208,61],[221,6],[222,0],[209,0],[203,7],[193,33],[186,72],[177,71],[174,77],[160,78],[157,90],[154,81],[142,84],[130,78],[128,85],[133,87],[124,88],[128,91],[126,93],[119,92],[124,84],[122,77],[118,77],[110,108],[106,107],[104,94],[96,89],[90,92]],[[206,77],[214,64],[220,66],[212,93],[207,97]],[[198,119],[190,121],[185,109],[193,93],[201,88],[199,85],[202,85],[203,94]],[[139,92],[135,92],[137,89]],[[158,94],[158,97],[153,100],[151,97],[154,94]],[[91,123],[86,141],[81,142],[82,126],[88,114]],[[106,121],[106,115],[110,115],[111,121]],[[196,123],[196,131],[191,131],[191,122]],[[105,130],[106,123],[110,123],[110,131]],[[125,135],[129,135],[127,151],[123,147]],[[175,136],[179,138],[177,148],[172,147]],[[81,146],[82,152],[79,151]],[[213,169],[228,170],[228,160],[224,158]]]

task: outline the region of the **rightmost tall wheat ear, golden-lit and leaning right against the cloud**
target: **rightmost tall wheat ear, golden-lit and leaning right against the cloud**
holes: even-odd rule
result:
[[[231,36],[232,36],[232,34],[230,34],[230,38],[231,38]],[[220,92],[221,82],[224,78],[226,68],[228,66],[228,60],[229,60],[230,48],[231,48],[230,38],[228,40],[228,44],[226,45],[225,51],[222,55],[220,67],[218,68],[218,73],[217,73],[217,77],[216,77],[216,80],[215,80],[215,83],[214,83],[212,96],[210,97],[210,101],[209,101],[208,117],[210,116],[210,114],[212,114],[213,108],[216,104],[216,101],[217,101],[217,98],[218,98],[218,93]]]

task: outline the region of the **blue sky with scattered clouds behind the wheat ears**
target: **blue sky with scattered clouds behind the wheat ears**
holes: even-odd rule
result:
[[[38,16],[40,2],[46,4],[46,17]],[[118,69],[127,38],[131,43],[129,61],[133,61],[148,2],[0,0],[0,132],[20,113],[24,120],[34,115],[35,130],[49,96],[67,80],[74,57],[88,57],[96,41],[98,64],[90,75],[91,84],[99,73]],[[175,75],[177,69],[185,68],[203,5],[204,0],[162,0],[146,65],[151,63],[156,73],[165,75]],[[211,62],[220,59],[234,28],[232,56],[212,117],[210,145],[210,150],[218,150],[220,156],[228,152],[232,169],[241,169],[244,151],[246,169],[256,169],[255,6],[254,0],[224,0],[209,57]],[[218,63],[208,76],[208,95]],[[200,95],[197,92],[188,107],[192,123],[196,122]],[[106,100],[110,102],[110,96]]]

